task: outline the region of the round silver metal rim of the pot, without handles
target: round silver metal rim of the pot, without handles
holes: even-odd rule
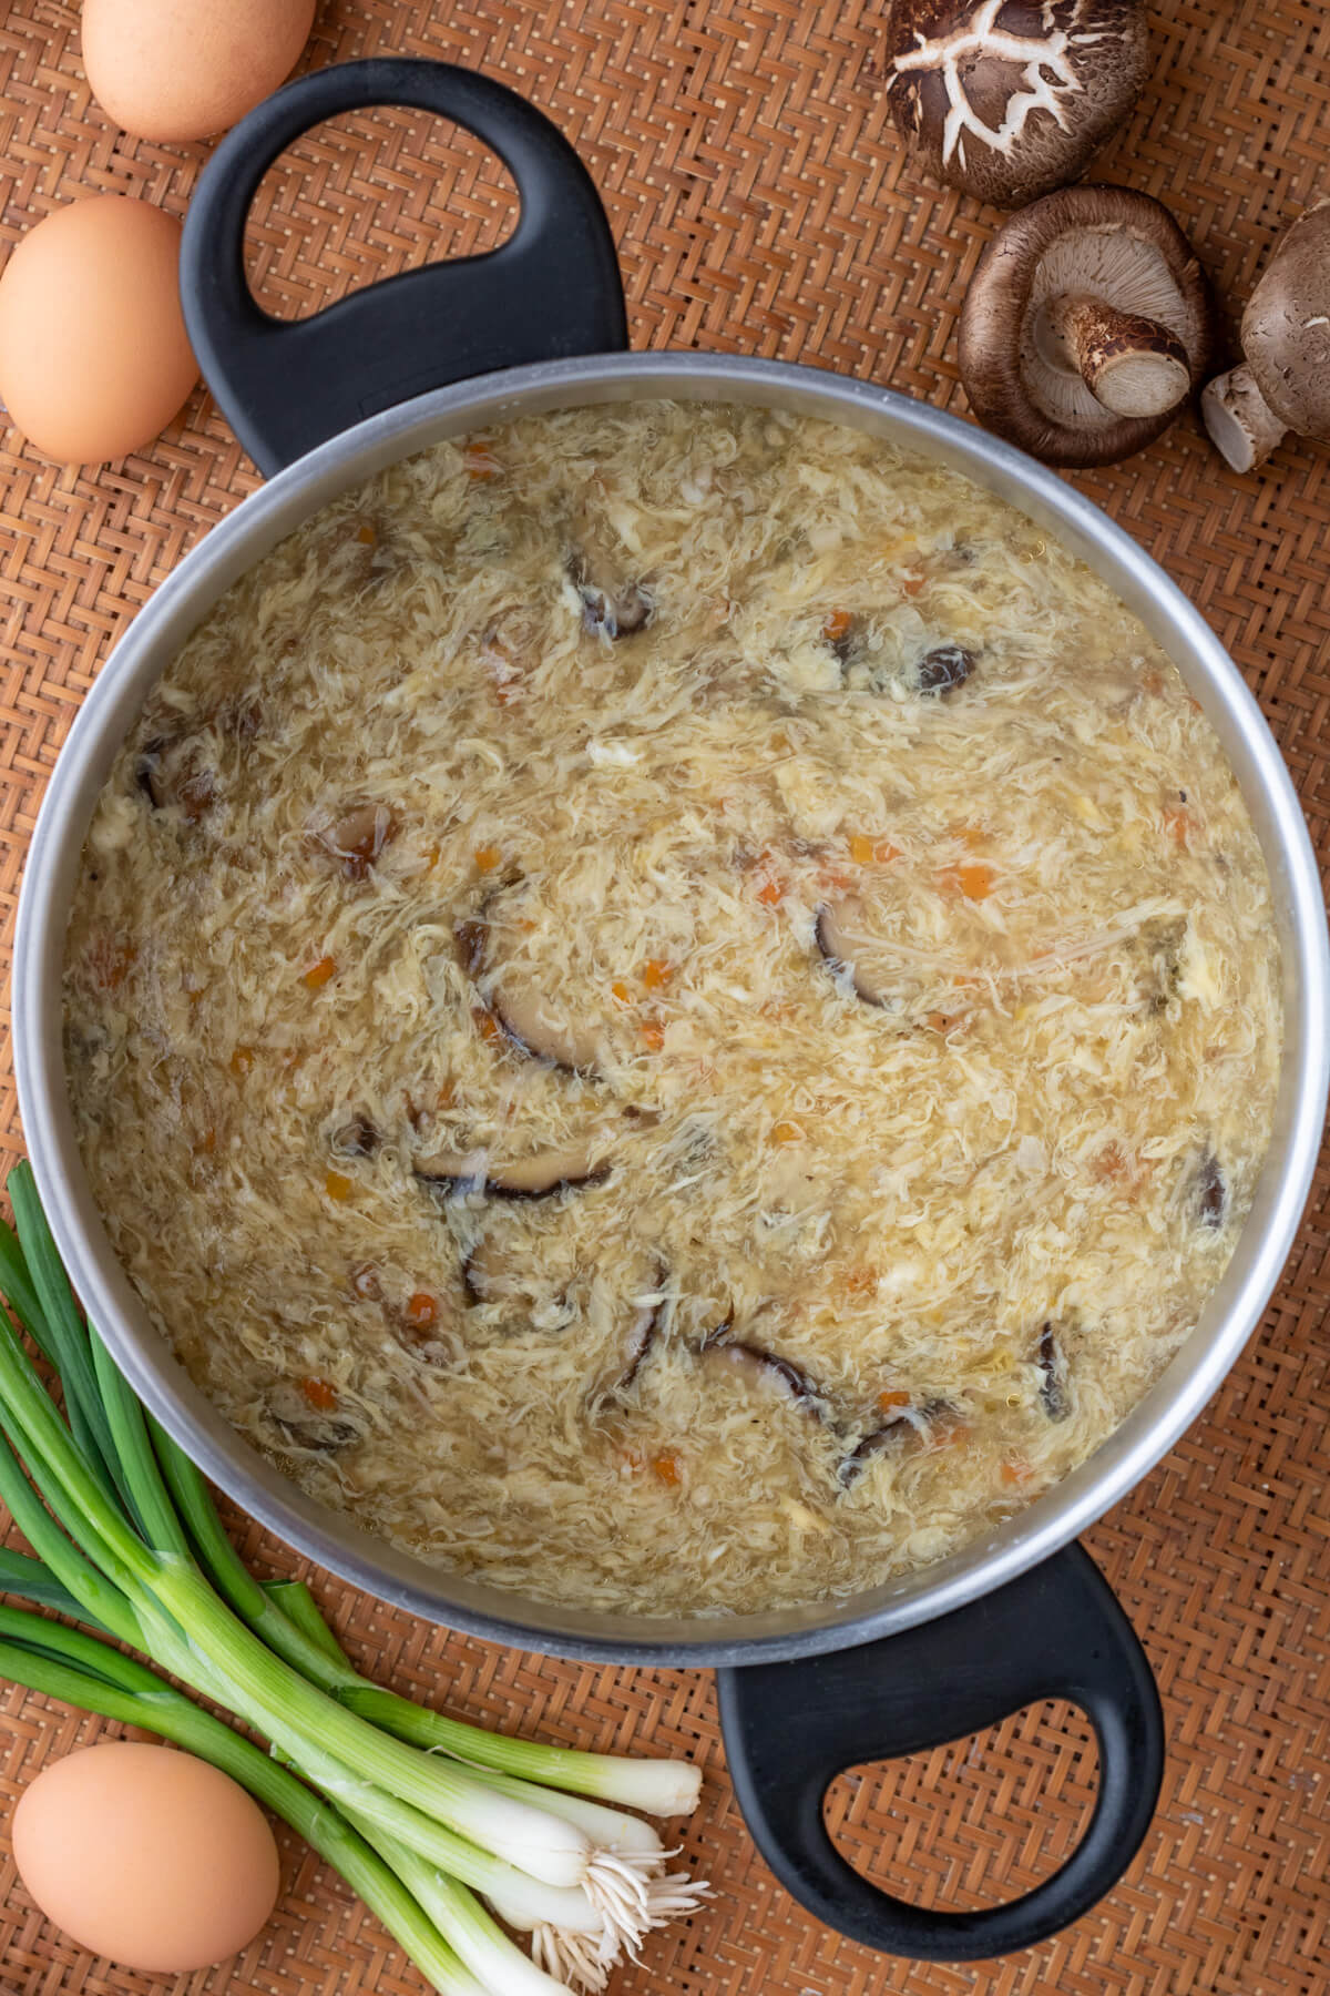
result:
[[[98,1218],[64,1088],[60,970],[82,840],[144,693],[187,631],[285,533],[383,465],[518,413],[648,397],[772,403],[891,435],[1009,499],[1089,559],[1161,639],[1220,735],[1282,920],[1284,1060],[1270,1154],[1228,1269],[1163,1377],[1087,1463],[1019,1517],[879,1589],[778,1615],[654,1621],[552,1607],[429,1567],[313,1503],[209,1407],[152,1327]],[[622,353],[481,375],[371,415],[243,499],[152,595],[84,701],[42,800],[18,908],[14,1064],[32,1168],[76,1289],[150,1411],[269,1531],[383,1601],[489,1641],[604,1663],[746,1665],[869,1643],[963,1607],[1093,1525],[1174,1445],[1240,1355],[1292,1246],[1324,1124],[1328,994],[1318,866],[1274,737],[1200,613],[1107,513],[989,433],[889,389],[722,353]]]

